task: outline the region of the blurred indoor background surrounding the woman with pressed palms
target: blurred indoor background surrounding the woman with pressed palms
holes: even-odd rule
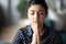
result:
[[[12,43],[20,28],[29,23],[26,2],[29,0],[0,0],[0,44]],[[48,14],[45,24],[61,32],[66,44],[66,0],[46,0]]]

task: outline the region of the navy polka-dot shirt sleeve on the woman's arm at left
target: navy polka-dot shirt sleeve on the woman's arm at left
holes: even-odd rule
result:
[[[14,36],[13,44],[24,44],[23,31],[20,29]]]

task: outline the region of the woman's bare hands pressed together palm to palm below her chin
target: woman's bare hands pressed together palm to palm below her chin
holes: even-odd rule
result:
[[[40,30],[35,29],[32,37],[32,43],[31,44],[41,44],[41,38],[40,38]]]

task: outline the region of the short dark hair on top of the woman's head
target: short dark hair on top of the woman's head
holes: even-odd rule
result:
[[[45,9],[45,12],[46,12],[46,15],[47,15],[47,4],[46,4],[45,0],[30,0],[30,1],[28,2],[28,9],[29,9],[32,4],[41,4],[41,6]]]

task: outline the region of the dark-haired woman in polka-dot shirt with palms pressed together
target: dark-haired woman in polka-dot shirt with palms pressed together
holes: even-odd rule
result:
[[[28,7],[30,25],[18,31],[13,44],[63,44],[61,34],[44,24],[47,15],[45,0],[30,0]]]

